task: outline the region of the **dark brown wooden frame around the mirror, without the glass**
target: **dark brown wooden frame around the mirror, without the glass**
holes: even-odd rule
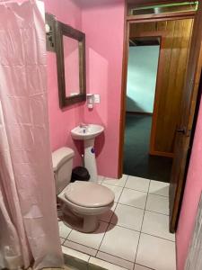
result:
[[[79,88],[80,94],[66,96],[66,73],[63,36],[78,40],[79,46]],[[56,54],[57,54],[57,84],[59,94],[59,106],[61,109],[74,103],[86,100],[85,80],[85,34],[65,23],[56,22]]]

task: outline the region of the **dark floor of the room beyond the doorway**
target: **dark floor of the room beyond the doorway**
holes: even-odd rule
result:
[[[151,126],[152,116],[127,113],[124,174],[169,183],[171,158],[148,154]]]

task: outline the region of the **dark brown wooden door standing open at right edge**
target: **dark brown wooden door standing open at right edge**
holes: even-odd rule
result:
[[[189,63],[182,96],[182,115],[176,130],[173,166],[170,186],[170,230],[177,228],[180,202],[186,178],[186,165],[189,152],[190,134],[198,98],[198,85],[202,67],[202,0],[193,27],[189,53]]]

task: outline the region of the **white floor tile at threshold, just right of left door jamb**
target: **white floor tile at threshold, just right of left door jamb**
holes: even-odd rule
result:
[[[125,185],[125,187],[147,193],[149,190],[149,183],[149,179],[136,176],[128,176],[127,184]]]

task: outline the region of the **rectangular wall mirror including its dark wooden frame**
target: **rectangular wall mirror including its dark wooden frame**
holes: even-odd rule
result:
[[[56,53],[60,108],[85,101],[85,34],[57,22]]]

